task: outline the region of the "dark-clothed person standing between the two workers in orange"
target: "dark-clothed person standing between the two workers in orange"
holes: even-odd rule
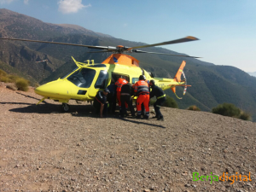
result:
[[[121,111],[121,117],[125,117],[127,115],[127,110],[125,108],[125,103],[128,104],[130,111],[131,111],[131,116],[135,117],[135,111],[132,106],[132,99],[131,96],[133,95],[133,90],[132,86],[130,83],[124,84],[121,88],[121,103],[122,103],[122,111]]]

